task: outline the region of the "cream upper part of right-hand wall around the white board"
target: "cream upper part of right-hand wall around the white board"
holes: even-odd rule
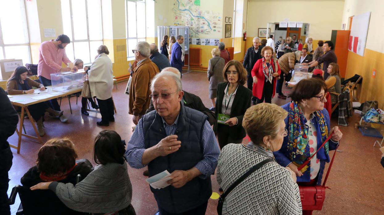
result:
[[[384,53],[384,1],[383,0],[345,0],[342,23],[348,25],[350,16],[359,15],[371,11],[369,20],[366,49]],[[353,21],[352,21],[353,22]]]

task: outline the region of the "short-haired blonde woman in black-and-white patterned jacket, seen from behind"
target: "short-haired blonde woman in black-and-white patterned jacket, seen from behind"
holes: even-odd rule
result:
[[[259,162],[273,158],[287,134],[287,112],[275,104],[248,108],[243,127],[252,142],[228,144],[218,158],[217,182],[224,192]],[[245,178],[225,198],[222,214],[302,214],[296,176],[288,168],[269,162]]]

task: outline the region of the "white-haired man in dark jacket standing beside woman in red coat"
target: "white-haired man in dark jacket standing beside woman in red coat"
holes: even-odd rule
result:
[[[253,38],[253,46],[245,53],[243,66],[247,70],[247,87],[252,90],[253,79],[251,71],[258,59],[262,58],[262,47],[260,46],[260,38]],[[252,103],[256,104],[256,97],[252,97]]]

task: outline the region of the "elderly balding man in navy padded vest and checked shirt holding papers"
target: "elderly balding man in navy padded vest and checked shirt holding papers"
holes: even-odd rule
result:
[[[148,165],[150,177],[171,173],[169,186],[151,187],[161,215],[204,215],[220,153],[208,117],[181,104],[184,92],[173,72],[157,74],[151,92],[155,110],[139,120],[126,159],[136,169]]]

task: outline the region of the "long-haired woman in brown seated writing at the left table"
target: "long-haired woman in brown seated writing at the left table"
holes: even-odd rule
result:
[[[31,80],[27,77],[28,69],[24,66],[19,66],[15,69],[12,76],[7,82],[7,93],[8,95],[18,95],[18,94],[33,94],[35,90],[32,87],[40,88],[40,90],[45,90],[43,84],[40,84],[34,80]],[[15,107],[16,110],[20,107]],[[36,103],[33,105],[28,105],[28,110],[31,113],[32,118],[36,121],[37,130],[40,136],[45,135],[43,128],[43,116],[45,112],[52,113],[54,116],[60,117],[63,115],[63,111],[56,111],[48,107],[44,102]],[[20,111],[20,110],[18,110]]]

